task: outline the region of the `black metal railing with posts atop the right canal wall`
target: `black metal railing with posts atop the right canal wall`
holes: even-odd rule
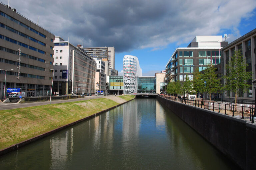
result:
[[[158,94],[159,95],[159,94]],[[232,115],[232,117],[237,117],[240,119],[244,119],[246,121],[250,121],[254,123],[254,118],[256,117],[256,112],[252,104],[237,104],[234,103],[223,103],[223,102],[210,102],[210,101],[202,101],[202,100],[188,100],[181,99],[178,97],[168,97],[165,95],[159,95],[163,98],[166,98],[171,101],[183,103],[186,105],[211,110],[213,112]]]

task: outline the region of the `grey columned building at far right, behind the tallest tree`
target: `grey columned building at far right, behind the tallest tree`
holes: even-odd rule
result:
[[[231,60],[231,56],[233,56],[235,51],[240,50],[241,54],[243,55],[243,58],[246,60],[246,63],[248,64],[248,67],[246,71],[250,72],[252,71],[252,80],[248,81],[247,83],[252,85],[244,94],[240,93],[237,96],[238,101],[254,101],[255,100],[255,90],[253,89],[253,83],[252,81],[255,81],[255,54],[256,54],[256,29],[252,30],[251,32],[243,35],[242,37],[238,38],[237,40],[229,43],[228,45],[224,46],[221,49],[222,55],[223,55],[223,61],[222,61],[222,74],[226,74],[226,64]],[[224,84],[225,80],[222,80],[222,83]],[[235,99],[235,93],[234,92],[224,92],[222,95],[223,99]]]

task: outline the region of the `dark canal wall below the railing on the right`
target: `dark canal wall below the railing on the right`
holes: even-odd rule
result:
[[[256,125],[239,118],[157,99],[242,169],[256,169]]]

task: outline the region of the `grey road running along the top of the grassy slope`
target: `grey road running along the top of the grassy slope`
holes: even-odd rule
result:
[[[97,98],[107,98],[107,96],[90,96],[90,99],[97,99]],[[68,100],[52,100],[51,104],[75,102],[75,101],[83,101],[83,100],[89,100],[89,96],[77,98],[77,99],[68,99]],[[49,103],[50,103],[49,101],[31,102],[31,103],[0,103],[0,110],[42,106],[42,105],[48,105]]]

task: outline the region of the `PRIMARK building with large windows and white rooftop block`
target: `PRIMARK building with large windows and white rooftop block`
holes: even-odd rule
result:
[[[166,85],[171,81],[183,82],[186,76],[192,80],[196,68],[202,71],[219,64],[221,48],[227,44],[222,36],[196,36],[187,47],[176,48],[166,64]]]

